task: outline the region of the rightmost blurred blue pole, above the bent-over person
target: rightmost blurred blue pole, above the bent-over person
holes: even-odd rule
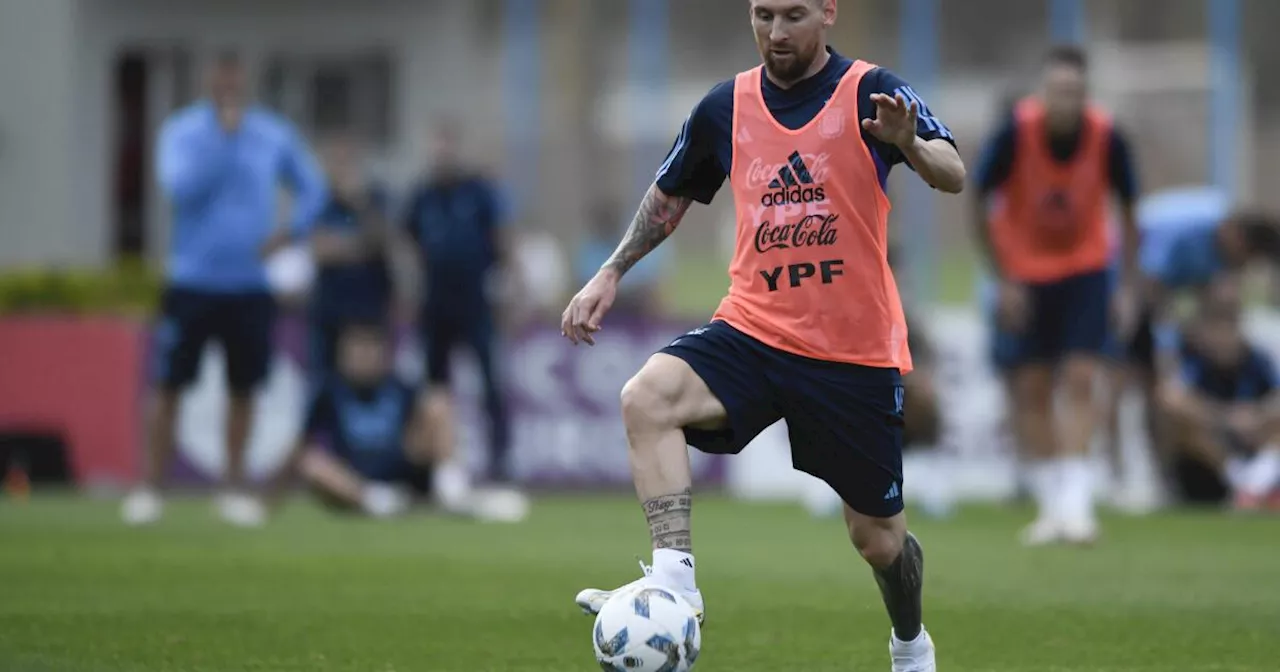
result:
[[[1240,91],[1240,3],[1204,0],[1208,13],[1210,100],[1208,100],[1208,177],[1229,195],[1236,192],[1235,166]]]

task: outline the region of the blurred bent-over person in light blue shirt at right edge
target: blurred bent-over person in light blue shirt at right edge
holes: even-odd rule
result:
[[[1126,378],[1143,392],[1148,438],[1167,471],[1171,453],[1152,401],[1158,381],[1178,375],[1175,300],[1216,280],[1240,282],[1251,261],[1280,262],[1280,224],[1271,215],[1235,210],[1215,187],[1153,193],[1139,205],[1138,220],[1142,285],[1137,326],[1125,343]]]

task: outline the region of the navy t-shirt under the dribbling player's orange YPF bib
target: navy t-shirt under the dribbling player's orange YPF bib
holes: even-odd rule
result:
[[[764,104],[783,127],[796,131],[818,116],[849,68],[854,65],[851,59],[841,56],[835,50],[828,49],[828,51],[831,58],[822,70],[791,88],[782,88],[768,77],[760,78]],[[657,183],[663,193],[709,204],[724,184],[733,164],[733,79],[716,84],[685,119],[676,143],[658,170]],[[858,84],[859,127],[863,119],[876,118],[872,93],[888,96],[901,93],[908,101],[915,101],[919,106],[916,134],[923,140],[942,138],[955,143],[951,131],[933,116],[911,86],[884,68],[868,72]],[[883,188],[890,169],[906,163],[906,157],[901,150],[876,140],[867,131],[861,132],[861,137],[870,148]]]

